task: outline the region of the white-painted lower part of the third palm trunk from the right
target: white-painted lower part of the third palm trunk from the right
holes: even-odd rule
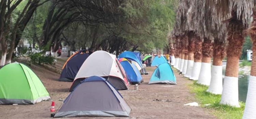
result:
[[[212,94],[222,94],[222,66],[212,66],[211,73],[211,83],[206,90],[207,92],[211,92]]]

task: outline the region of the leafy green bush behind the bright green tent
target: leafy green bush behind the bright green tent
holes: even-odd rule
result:
[[[55,57],[45,56],[45,55],[42,54],[42,52],[40,52],[40,53],[29,53],[28,56],[30,57],[30,63],[39,64],[39,65],[44,65],[44,64],[53,65],[54,61],[56,60]]]

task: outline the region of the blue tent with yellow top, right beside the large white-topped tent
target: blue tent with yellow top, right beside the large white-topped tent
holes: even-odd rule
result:
[[[140,84],[143,81],[140,71],[136,65],[129,63],[129,61],[125,58],[120,58],[119,62],[123,66],[128,79],[131,81],[131,84]]]

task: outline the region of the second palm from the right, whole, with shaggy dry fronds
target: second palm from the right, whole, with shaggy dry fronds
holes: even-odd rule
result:
[[[215,0],[218,19],[227,24],[227,66],[221,104],[240,107],[238,101],[238,64],[244,42],[243,30],[248,26],[254,0]]]

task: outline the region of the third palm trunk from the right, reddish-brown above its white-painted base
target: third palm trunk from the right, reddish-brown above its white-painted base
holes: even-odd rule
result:
[[[211,83],[207,92],[212,94],[222,94],[222,60],[225,56],[225,48],[221,44],[214,42],[213,46],[213,63]]]

